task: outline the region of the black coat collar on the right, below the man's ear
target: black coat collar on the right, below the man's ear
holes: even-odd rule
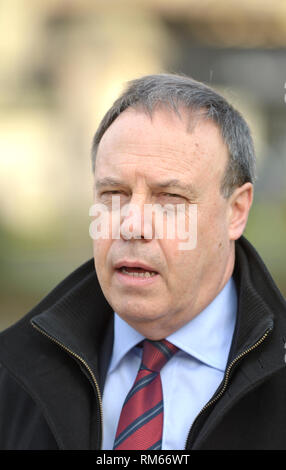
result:
[[[217,424],[240,399],[285,369],[285,299],[244,237],[236,243],[233,276],[238,290],[238,315],[226,374],[211,400],[215,406],[206,407],[192,427],[188,444],[194,449],[201,448],[216,432]],[[221,394],[226,384],[228,393]]]

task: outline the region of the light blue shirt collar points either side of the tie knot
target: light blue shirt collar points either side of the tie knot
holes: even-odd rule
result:
[[[237,311],[237,293],[231,278],[215,299],[195,318],[166,339],[199,361],[225,370]],[[144,340],[115,312],[114,344],[109,372],[134,346]]]

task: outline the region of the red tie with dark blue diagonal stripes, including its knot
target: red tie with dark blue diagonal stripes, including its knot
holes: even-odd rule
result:
[[[166,339],[143,341],[142,362],[122,407],[114,450],[157,450],[162,446],[163,393],[160,370],[178,348]]]

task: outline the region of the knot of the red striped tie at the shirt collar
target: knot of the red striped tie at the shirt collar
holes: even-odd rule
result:
[[[160,372],[162,367],[178,351],[178,348],[166,339],[161,341],[143,341],[143,356],[141,369]]]

